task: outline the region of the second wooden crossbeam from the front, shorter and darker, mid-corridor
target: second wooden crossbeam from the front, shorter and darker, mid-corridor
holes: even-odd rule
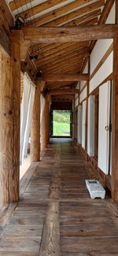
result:
[[[46,82],[53,82],[53,81],[85,81],[89,80],[90,76],[88,74],[50,74],[50,75],[43,75],[42,79]]]

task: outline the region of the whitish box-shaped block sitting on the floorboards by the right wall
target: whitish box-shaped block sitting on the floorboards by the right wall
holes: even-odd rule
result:
[[[105,198],[105,189],[98,180],[86,180],[86,186],[90,193],[90,198]]]

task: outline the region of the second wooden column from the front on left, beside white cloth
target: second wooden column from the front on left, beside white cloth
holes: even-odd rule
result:
[[[40,161],[40,81],[36,85],[31,118],[31,162]]]

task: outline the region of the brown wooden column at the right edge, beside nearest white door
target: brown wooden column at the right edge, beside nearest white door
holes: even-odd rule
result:
[[[113,39],[112,199],[118,202],[118,33]]]

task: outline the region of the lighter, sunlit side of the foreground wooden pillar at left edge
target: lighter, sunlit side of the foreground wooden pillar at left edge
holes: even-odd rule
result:
[[[4,204],[13,197],[13,86],[9,80],[10,58],[2,51],[0,54],[0,203]]]

